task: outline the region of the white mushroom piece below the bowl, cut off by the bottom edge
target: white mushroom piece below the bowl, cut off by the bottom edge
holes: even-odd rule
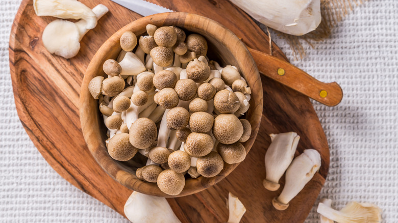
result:
[[[167,200],[134,191],[126,201],[124,212],[131,222],[181,223]]]

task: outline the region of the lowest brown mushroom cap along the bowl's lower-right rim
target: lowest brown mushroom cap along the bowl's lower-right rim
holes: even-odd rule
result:
[[[197,158],[196,169],[204,177],[214,177],[219,174],[224,167],[221,156],[216,152]]]

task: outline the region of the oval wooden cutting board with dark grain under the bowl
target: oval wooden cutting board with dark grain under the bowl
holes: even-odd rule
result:
[[[95,51],[115,31],[140,15],[108,0],[81,2],[90,8],[104,4],[110,12],[83,38],[77,57],[65,60],[48,53],[41,41],[44,27],[55,18],[36,16],[32,1],[22,1],[12,26],[9,48],[15,103],[22,125],[46,161],[71,184],[123,215],[123,205],[132,191],[109,177],[88,151],[79,121],[79,92]],[[152,2],[212,18],[241,37],[246,45],[269,53],[268,37],[227,0]],[[286,60],[275,44],[272,51],[276,57]],[[229,191],[238,196],[247,209],[242,222],[303,222],[310,212],[329,168],[325,133],[308,97],[266,77],[262,77],[262,85],[263,118],[252,150],[234,172],[215,186],[191,196],[168,199],[181,221],[225,222]],[[290,207],[277,211],[271,199],[278,196],[281,189],[270,192],[262,186],[264,155],[270,143],[268,134],[287,131],[301,136],[299,152],[308,148],[318,150],[322,166],[291,201]]]

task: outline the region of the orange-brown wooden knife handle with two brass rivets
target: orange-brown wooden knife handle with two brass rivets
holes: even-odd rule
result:
[[[337,105],[343,98],[343,91],[338,83],[321,82],[288,62],[252,48],[248,49],[260,73],[282,85],[328,106]]]

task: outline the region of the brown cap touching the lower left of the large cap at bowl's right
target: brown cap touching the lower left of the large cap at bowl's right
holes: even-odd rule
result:
[[[206,156],[213,150],[213,138],[206,133],[192,132],[184,143],[184,151],[193,157]]]

